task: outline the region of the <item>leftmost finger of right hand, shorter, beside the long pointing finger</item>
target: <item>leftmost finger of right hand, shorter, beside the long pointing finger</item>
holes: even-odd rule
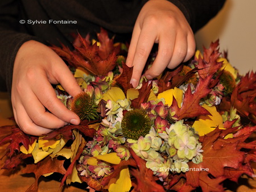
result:
[[[141,34],[141,28],[138,26],[137,23],[135,23],[133,35],[131,36],[131,42],[129,45],[129,51],[126,58],[126,65],[130,68],[133,66],[133,59],[135,55],[136,46],[139,39],[139,34]]]

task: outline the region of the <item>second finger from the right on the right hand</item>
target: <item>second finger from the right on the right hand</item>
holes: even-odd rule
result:
[[[167,66],[169,69],[174,69],[185,59],[185,56],[187,55],[187,48],[187,35],[177,33],[174,45],[174,53],[170,63]]]

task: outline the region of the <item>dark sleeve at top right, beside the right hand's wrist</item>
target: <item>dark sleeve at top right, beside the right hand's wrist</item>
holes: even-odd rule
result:
[[[203,27],[217,15],[225,0],[168,0],[176,5],[187,18],[193,32]]]

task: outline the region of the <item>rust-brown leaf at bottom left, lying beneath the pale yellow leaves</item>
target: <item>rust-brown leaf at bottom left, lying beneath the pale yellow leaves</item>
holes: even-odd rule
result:
[[[37,164],[27,165],[25,169],[22,170],[23,173],[34,173],[35,182],[27,189],[27,191],[37,191],[38,190],[38,180],[41,176],[47,173],[60,173],[65,174],[66,170],[63,166],[64,160],[58,160],[57,158],[47,157],[43,161]]]

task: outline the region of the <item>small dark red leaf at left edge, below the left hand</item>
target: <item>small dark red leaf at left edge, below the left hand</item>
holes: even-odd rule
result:
[[[1,127],[4,128],[4,127]],[[17,126],[11,126],[11,135],[5,137],[0,141],[0,145],[10,142],[10,145],[6,148],[6,155],[11,157],[14,155],[15,151],[20,151],[20,145],[23,145],[27,150],[29,145],[34,143],[36,137],[28,136]]]

